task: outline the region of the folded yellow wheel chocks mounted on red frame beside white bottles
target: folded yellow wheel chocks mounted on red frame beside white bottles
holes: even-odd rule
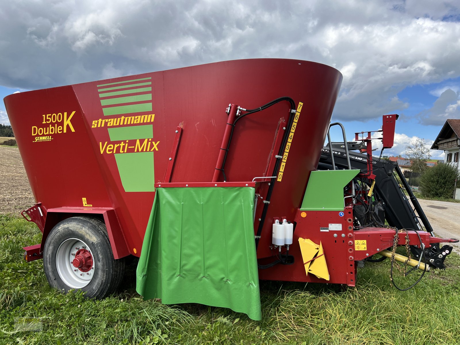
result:
[[[326,265],[326,258],[322,243],[319,245],[309,239],[299,238],[300,251],[302,259],[304,259],[305,272],[312,273],[318,278],[329,280],[328,265]]]

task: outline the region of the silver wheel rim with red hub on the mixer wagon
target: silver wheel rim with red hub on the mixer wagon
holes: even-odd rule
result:
[[[91,248],[78,238],[65,240],[57,248],[56,268],[66,285],[84,288],[91,282],[96,270]]]

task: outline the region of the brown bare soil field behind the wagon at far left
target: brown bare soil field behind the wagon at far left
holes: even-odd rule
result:
[[[20,211],[34,204],[19,150],[0,146],[0,214],[19,216]]]

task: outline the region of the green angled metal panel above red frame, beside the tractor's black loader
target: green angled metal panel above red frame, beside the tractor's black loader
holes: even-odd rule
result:
[[[357,169],[312,171],[300,210],[343,211],[344,187],[359,172]]]

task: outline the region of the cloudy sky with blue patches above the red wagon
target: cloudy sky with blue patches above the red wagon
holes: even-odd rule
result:
[[[1,98],[264,57],[339,69],[333,121],[348,140],[400,115],[384,155],[404,155],[414,138],[430,147],[460,118],[459,0],[0,0]],[[9,124],[3,103],[0,123]]]

